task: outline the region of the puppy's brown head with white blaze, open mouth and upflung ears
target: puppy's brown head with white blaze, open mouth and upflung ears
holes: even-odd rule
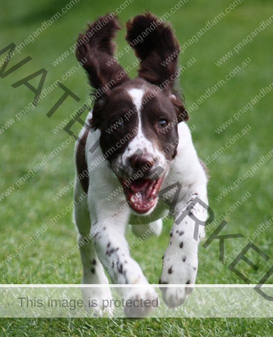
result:
[[[137,56],[132,66],[123,69],[113,57],[119,26],[112,14],[80,34],[76,57],[96,90],[91,127],[100,130],[100,147],[131,208],[148,214],[176,156],[177,124],[188,113],[174,85],[179,44],[171,26],[149,12],[126,26]],[[137,63],[138,77],[130,79],[127,73]]]

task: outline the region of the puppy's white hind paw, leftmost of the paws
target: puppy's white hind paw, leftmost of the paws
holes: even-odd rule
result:
[[[99,317],[113,316],[113,309],[105,306],[105,303],[111,303],[112,300],[110,288],[81,288],[81,295],[87,313]]]

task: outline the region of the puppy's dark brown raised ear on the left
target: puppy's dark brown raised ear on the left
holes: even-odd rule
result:
[[[79,34],[76,58],[82,63],[90,85],[95,89],[92,92],[97,98],[95,106],[102,108],[102,102],[110,94],[111,89],[127,81],[129,77],[121,65],[112,59],[116,46],[112,39],[120,29],[116,17],[111,14],[100,16],[97,21],[88,24],[88,27],[85,34]],[[124,72],[123,76],[118,76],[121,72]],[[95,109],[95,106],[92,126],[97,129],[100,118],[96,110],[100,109]]]

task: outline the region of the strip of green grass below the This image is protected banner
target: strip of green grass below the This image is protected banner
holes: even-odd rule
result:
[[[271,337],[266,319],[3,319],[0,336]]]

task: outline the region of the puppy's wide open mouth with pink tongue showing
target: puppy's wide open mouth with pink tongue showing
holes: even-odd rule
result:
[[[153,194],[159,191],[162,180],[163,177],[159,177],[156,180],[137,179],[130,182],[120,178],[127,201],[130,201],[130,207],[137,213],[146,213],[154,206],[157,197]]]

